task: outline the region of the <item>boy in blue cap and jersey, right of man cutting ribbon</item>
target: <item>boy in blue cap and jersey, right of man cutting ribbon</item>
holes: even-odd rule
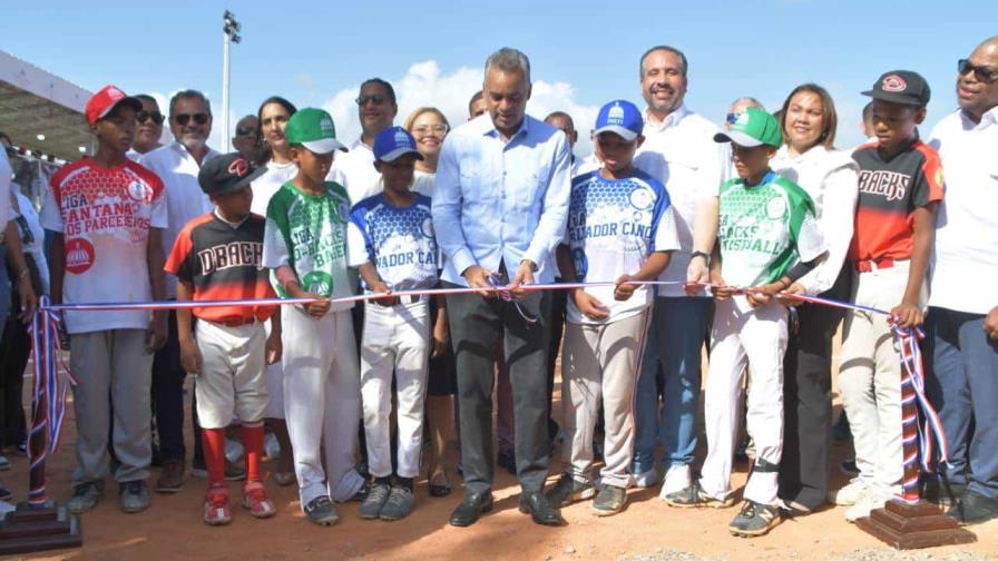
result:
[[[561,357],[565,473],[548,492],[554,506],[596,495],[600,516],[627,502],[634,453],[632,403],[653,291],[628,280],[654,280],[678,249],[668,194],[633,166],[644,141],[642,114],[611,101],[596,119],[596,154],[603,167],[573,180],[568,228],[558,247],[566,283],[611,283],[576,288],[568,299]],[[603,405],[605,466],[596,493],[593,432]]]

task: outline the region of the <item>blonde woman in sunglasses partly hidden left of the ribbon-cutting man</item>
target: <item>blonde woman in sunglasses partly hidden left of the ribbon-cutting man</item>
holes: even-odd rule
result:
[[[420,107],[405,119],[404,128],[415,139],[415,149],[423,157],[415,161],[412,190],[432,197],[437,160],[450,124],[436,107]],[[451,492],[446,465],[447,434],[452,432],[453,395],[458,391],[454,355],[447,331],[447,309],[440,305],[442,302],[443,298],[431,301],[430,311],[436,317],[425,407],[425,426],[430,432],[425,459],[430,496],[447,496]]]

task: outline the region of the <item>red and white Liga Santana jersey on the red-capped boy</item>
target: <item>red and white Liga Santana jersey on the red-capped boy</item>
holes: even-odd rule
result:
[[[41,225],[63,236],[65,304],[147,302],[149,228],[166,228],[163,181],[126,160],[105,168],[90,158],[63,166],[49,181]],[[63,314],[69,333],[145,329],[149,312]]]

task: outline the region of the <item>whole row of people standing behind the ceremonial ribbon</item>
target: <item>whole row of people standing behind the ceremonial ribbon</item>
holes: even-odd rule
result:
[[[687,107],[681,50],[653,47],[639,70],[645,108],[603,106],[579,127],[595,154],[578,159],[569,115],[527,114],[530,63],[509,48],[488,58],[459,126],[433,107],[394,126],[391,83],[364,81],[352,142],[326,111],[271,97],[223,155],[206,144],[202,92],[179,91],[165,116],[149,96],[98,91],[86,107],[94,156],[52,177],[38,214],[16,186],[0,197],[0,286],[20,306],[3,338],[23,336],[40,294],[202,305],[62,313],[79,381],[68,508],[92,509],[111,475],[121,510],[146,510],[151,465],[156,492],[182,489],[193,375],[190,471],[207,478],[207,524],[232,520],[229,481],[244,481],[251,515],[276,514],[265,456],[316,524],[346,501],[363,519],[405,518],[421,475],[430,496],[451,493],[451,433],[457,526],[492,509],[497,466],[544,525],[585,500],[617,514],[634,486],[661,486],[675,508],[737,499],[735,535],[829,503],[855,521],[901,493],[894,335],[921,328],[949,443],[921,492],[961,523],[998,518],[998,288],[987,280],[998,274],[998,38],[959,61],[959,108],[924,140],[929,85],[881,75],[862,92],[869,138],[848,149],[819,85],[794,88],[775,114],[741,97],[718,127]],[[167,121],[174,140],[159,146]],[[4,317],[10,303],[0,297]],[[855,475],[830,489],[840,324]],[[23,372],[26,358],[3,361],[4,378]],[[2,406],[20,410],[19,396]],[[752,463],[738,492],[742,425]],[[22,443],[20,431],[0,436]],[[231,461],[235,440],[244,466]]]

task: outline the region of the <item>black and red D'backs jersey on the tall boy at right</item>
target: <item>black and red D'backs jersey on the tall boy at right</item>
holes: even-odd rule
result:
[[[910,258],[912,213],[942,200],[942,166],[933,148],[916,139],[884,160],[878,146],[865,144],[852,154],[860,167],[860,196],[849,247],[852,263]]]

